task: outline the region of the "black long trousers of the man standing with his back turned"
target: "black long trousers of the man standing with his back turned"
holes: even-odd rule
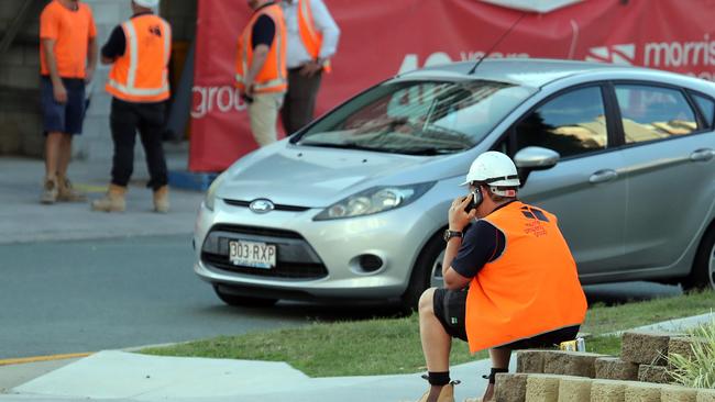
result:
[[[164,129],[164,102],[134,103],[117,98],[112,99],[112,111],[109,118],[114,142],[114,158],[112,160],[112,183],[127,187],[134,170],[134,141],[136,131],[142,139],[146,154],[150,181],[146,187],[153,190],[168,182],[166,159],[162,145]]]

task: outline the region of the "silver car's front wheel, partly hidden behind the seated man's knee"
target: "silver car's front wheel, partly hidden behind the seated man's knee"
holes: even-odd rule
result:
[[[441,234],[441,232],[440,232]],[[427,242],[417,257],[413,268],[407,290],[403,293],[403,306],[407,311],[417,311],[417,304],[422,292],[430,287],[441,287],[442,259],[444,258],[444,241],[440,235],[435,235]]]

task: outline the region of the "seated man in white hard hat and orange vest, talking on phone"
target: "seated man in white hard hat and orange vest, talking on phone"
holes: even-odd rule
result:
[[[481,154],[466,175],[469,196],[448,213],[444,288],[419,300],[419,332],[430,389],[420,401],[454,401],[449,375],[452,338],[490,349],[483,401],[512,350],[573,340],[586,314],[576,265],[557,217],[517,199],[519,176],[508,156]],[[475,220],[479,219],[479,220]]]

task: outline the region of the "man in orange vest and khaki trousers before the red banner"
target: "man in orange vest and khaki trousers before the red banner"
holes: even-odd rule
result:
[[[253,137],[266,146],[277,139],[278,110],[288,88],[286,24],[277,3],[248,2],[253,15],[239,37],[235,81],[248,103]]]

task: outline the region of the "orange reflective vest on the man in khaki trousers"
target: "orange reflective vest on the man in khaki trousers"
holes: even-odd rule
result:
[[[245,87],[245,75],[253,63],[253,25],[261,15],[268,15],[275,24],[275,35],[268,56],[263,68],[253,79],[253,89],[256,93],[284,92],[288,88],[288,71],[286,69],[286,24],[283,9],[278,4],[264,7],[251,16],[251,21],[243,29],[239,37],[239,56],[235,65],[235,81],[240,89]]]

